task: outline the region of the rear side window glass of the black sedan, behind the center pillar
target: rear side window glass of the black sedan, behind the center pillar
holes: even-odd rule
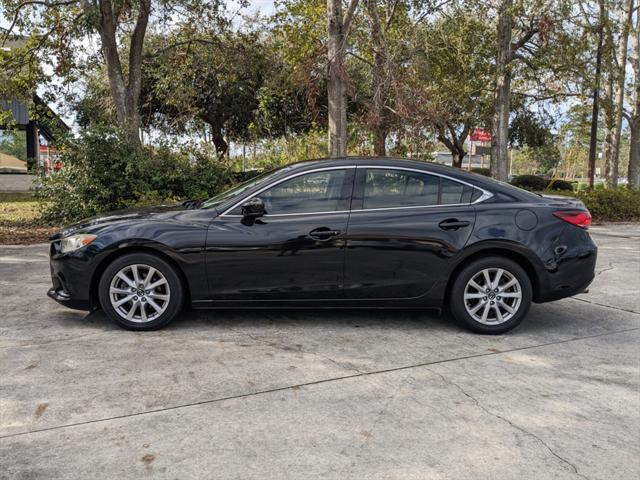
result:
[[[369,168],[365,172],[364,209],[471,203],[473,187],[436,175]]]

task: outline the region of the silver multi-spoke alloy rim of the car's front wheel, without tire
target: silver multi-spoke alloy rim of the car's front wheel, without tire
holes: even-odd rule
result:
[[[111,279],[109,300],[125,320],[145,323],[164,313],[171,300],[171,290],[158,269],[143,264],[127,265]]]

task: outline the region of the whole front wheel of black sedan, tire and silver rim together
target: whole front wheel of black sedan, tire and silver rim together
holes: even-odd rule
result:
[[[175,269],[148,253],[123,255],[111,263],[99,284],[100,305],[129,330],[156,330],[182,308],[183,287]]]

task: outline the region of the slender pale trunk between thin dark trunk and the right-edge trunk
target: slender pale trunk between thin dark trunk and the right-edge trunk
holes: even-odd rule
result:
[[[618,65],[615,77],[615,100],[614,100],[614,125],[611,138],[611,180],[610,186],[618,185],[618,167],[620,163],[620,137],[622,132],[622,115],[624,108],[624,86],[627,66],[627,46],[629,44],[629,29],[633,17],[633,0],[626,0],[623,7],[624,23],[620,38],[618,39]]]

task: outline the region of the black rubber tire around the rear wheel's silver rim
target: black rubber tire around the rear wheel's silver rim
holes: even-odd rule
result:
[[[473,316],[467,311],[467,304],[465,302],[470,302],[469,305],[472,309],[472,307],[477,306],[479,302],[490,302],[491,298],[483,297],[477,300],[465,300],[464,294],[465,288],[472,278],[476,277],[476,275],[480,274],[485,269],[496,268],[503,269],[515,277],[520,284],[521,298],[515,313],[511,314],[512,316],[508,320],[503,323],[488,325],[473,318]],[[495,273],[495,275],[497,275],[497,273]],[[494,293],[494,295],[498,294]],[[462,327],[468,328],[476,333],[499,335],[508,332],[522,322],[529,311],[529,307],[531,306],[531,299],[531,280],[527,272],[513,260],[500,256],[490,256],[472,261],[458,273],[449,293],[448,312],[453,317],[453,320]],[[503,299],[503,301],[505,300]],[[474,304],[472,302],[476,303]],[[480,309],[484,310],[484,306],[480,307]],[[490,311],[494,312],[493,307],[490,307]],[[492,313],[492,315],[497,318],[496,313]]]

